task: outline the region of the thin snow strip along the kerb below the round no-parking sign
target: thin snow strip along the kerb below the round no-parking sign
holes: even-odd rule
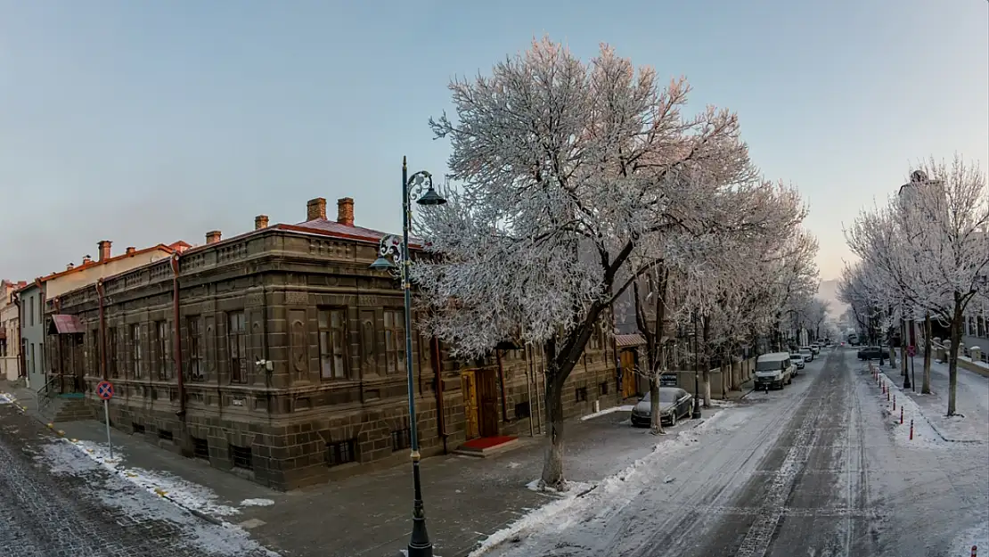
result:
[[[186,509],[215,516],[230,516],[239,512],[232,507],[219,504],[217,495],[204,486],[188,482],[166,472],[128,468],[121,464],[120,458],[111,459],[110,451],[105,445],[81,440],[65,439],[65,441],[113,474],[149,493],[167,497]],[[114,449],[114,452],[115,456],[120,455],[119,449]]]

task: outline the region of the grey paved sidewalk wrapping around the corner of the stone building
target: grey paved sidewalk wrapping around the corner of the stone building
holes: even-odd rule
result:
[[[12,394],[18,396],[16,391]],[[731,398],[745,394],[736,392]],[[27,402],[32,412],[30,401],[18,402]],[[707,410],[704,417],[714,412]],[[568,480],[600,480],[650,454],[657,443],[675,438],[633,428],[628,417],[628,412],[618,411],[566,424]],[[686,420],[673,431],[693,425]],[[74,442],[80,456],[105,460],[102,422],[56,423],[54,430],[62,430],[62,442]],[[283,555],[395,557],[407,543],[412,503],[407,466],[286,494],[116,429],[111,435],[116,458],[105,466],[148,491],[165,494],[216,521],[245,528]],[[449,455],[422,461],[426,523],[437,555],[467,555],[479,541],[526,511],[553,501],[552,496],[525,487],[539,477],[544,441],[538,435],[523,437],[517,448],[487,459]]]

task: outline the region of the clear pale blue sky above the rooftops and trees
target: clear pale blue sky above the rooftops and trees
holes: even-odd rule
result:
[[[0,276],[61,270],[103,238],[300,222],[314,197],[394,230],[402,156],[444,172],[426,121],[449,79],[545,33],[737,111],[766,176],[810,204],[832,278],[842,224],[911,162],[989,166],[987,20],[986,0],[0,0]]]

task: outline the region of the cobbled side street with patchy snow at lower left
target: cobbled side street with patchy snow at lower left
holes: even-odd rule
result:
[[[267,557],[92,462],[11,404],[0,405],[0,555]],[[277,556],[276,556],[277,557]]]

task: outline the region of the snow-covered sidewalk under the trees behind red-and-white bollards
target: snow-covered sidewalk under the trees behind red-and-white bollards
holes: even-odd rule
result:
[[[959,367],[955,390],[955,408],[958,416],[947,418],[947,364],[939,363],[937,360],[931,362],[930,395],[920,394],[923,385],[924,358],[915,357],[913,365],[917,385],[914,386],[915,392],[905,391],[905,394],[921,410],[935,432],[948,442],[989,442],[989,377]],[[886,366],[883,371],[902,391],[903,377],[900,375],[900,368],[889,369]],[[911,376],[911,380],[913,379],[914,377]]]

